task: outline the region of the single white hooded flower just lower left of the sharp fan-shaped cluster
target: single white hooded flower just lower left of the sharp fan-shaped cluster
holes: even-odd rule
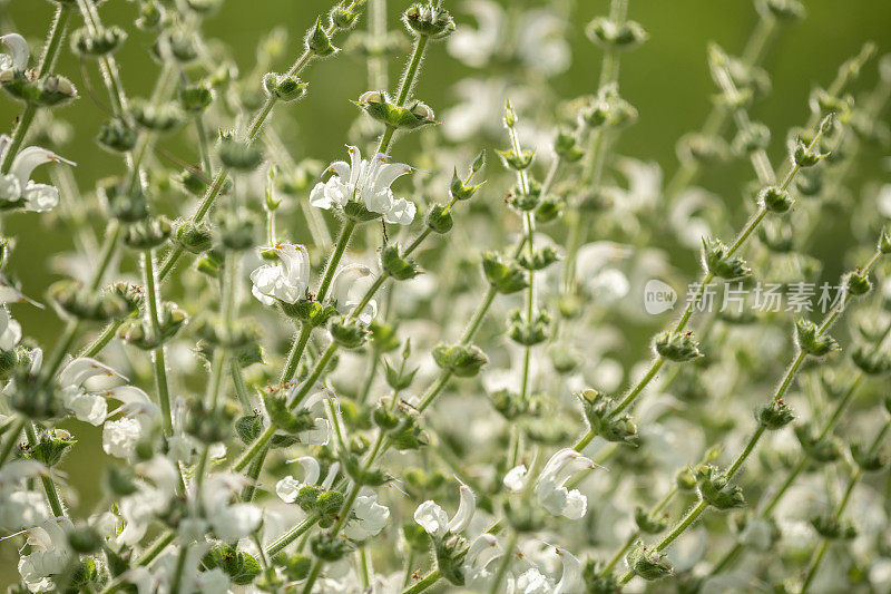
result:
[[[274,247],[278,262],[264,264],[251,273],[251,292],[265,305],[275,300],[296,303],[310,286],[310,253],[303,245],[281,243]]]

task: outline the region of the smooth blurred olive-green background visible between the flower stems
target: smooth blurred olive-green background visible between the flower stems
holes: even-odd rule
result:
[[[548,4],[532,0],[507,0],[505,3],[530,7]],[[891,2],[809,0],[805,3],[806,19],[783,27],[768,50],[764,67],[771,74],[773,90],[766,100],[755,104],[752,109],[753,118],[764,121],[774,132],[770,154],[775,164],[784,157],[785,130],[806,119],[807,97],[814,86],[829,84],[838,66],[856,53],[866,40],[878,43],[880,55],[891,51]],[[399,13],[408,2],[390,0],[389,4],[390,27],[401,27],[398,25]],[[555,4],[571,9],[568,37],[574,58],[567,72],[551,79],[554,91],[567,99],[590,94],[596,90],[600,51],[585,37],[584,26],[593,17],[607,12],[608,2],[578,0],[575,3]],[[286,27],[287,58],[282,64],[273,65],[274,69],[281,71],[286,69],[291,57],[298,55],[303,32],[316,14],[330,6],[330,0],[228,0],[218,13],[206,21],[205,30],[208,37],[222,40],[229,47],[231,56],[242,72],[249,72],[256,64],[257,41],[272,28]],[[462,21],[467,22],[460,2],[446,0],[446,6],[453,9],[459,27]],[[51,2],[39,0],[0,2],[0,32],[8,32],[10,26],[14,25],[16,30],[37,50],[52,11]],[[135,3],[111,0],[102,3],[101,11],[107,23],[119,23],[133,31]],[[717,41],[731,53],[738,53],[756,23],[757,14],[750,0],[631,0],[629,17],[643,23],[650,38],[642,48],[623,57],[621,92],[638,108],[640,117],[633,128],[621,135],[619,150],[640,159],[658,162],[669,176],[677,166],[677,138],[701,126],[709,108],[711,96],[715,92],[705,60],[707,42]],[[77,17],[75,25],[80,25]],[[365,27],[365,22],[360,27]],[[146,58],[150,42],[149,36],[134,32],[117,55],[124,84],[133,97],[147,95],[155,80],[157,66]],[[395,78],[403,60],[393,60],[391,79]],[[94,84],[98,85],[95,65],[87,64],[86,68],[91,72]],[[58,150],[78,162],[75,176],[81,189],[89,191],[96,179],[120,173],[121,162],[119,157],[101,152],[94,142],[105,115],[84,92],[79,62],[66,52],[57,71],[71,78],[81,89],[81,98],[75,105],[56,113],[59,118],[71,121],[75,132],[74,138],[58,147]],[[429,51],[415,96],[437,110],[444,109],[456,100],[449,90],[451,85],[472,74],[472,69],[450,58],[443,46],[437,46]],[[309,96],[298,104],[280,106],[278,117],[288,120],[285,140],[298,158],[311,156],[325,162],[334,155],[340,158],[346,129],[355,117],[355,107],[349,99],[366,90],[364,60],[346,55],[316,62],[304,78],[311,82]],[[874,80],[873,62],[855,88],[871,88]],[[102,89],[97,88],[97,94],[104,96]],[[12,129],[18,110],[17,104],[6,96],[0,97],[0,132]],[[186,162],[197,159],[194,147],[170,142],[163,142],[161,146]],[[407,160],[411,162],[408,157]],[[877,162],[875,158],[871,160]],[[875,171],[873,165],[873,173]],[[712,171],[703,179],[703,185],[726,195],[728,202],[738,204],[741,188],[751,177],[748,164],[737,162]],[[856,193],[856,179],[851,187]],[[33,296],[42,296],[46,288],[56,280],[46,267],[47,256],[70,245],[62,230],[39,224],[43,216],[23,214],[7,217],[4,230],[18,242],[9,267]],[[842,221],[835,224],[842,230],[839,241],[846,241],[844,237],[850,236],[844,232],[846,223]],[[814,255],[829,259],[830,267],[833,261],[839,264],[839,245],[830,242],[817,249],[820,252]],[[681,267],[692,270],[696,265],[688,253],[678,254],[678,259],[684,259],[676,262]],[[21,321],[27,335],[45,348],[52,347],[62,327],[60,321],[23,306],[17,306],[13,314]],[[78,436],[88,441],[95,440],[96,435],[96,431],[91,434],[82,426],[78,427]],[[98,446],[95,444],[92,447],[75,448],[74,455],[63,465],[81,502],[94,502],[98,490],[95,473]],[[88,510],[88,506],[78,509],[79,513]],[[14,551],[11,547],[0,548],[0,584],[17,577],[11,564],[13,558]]]

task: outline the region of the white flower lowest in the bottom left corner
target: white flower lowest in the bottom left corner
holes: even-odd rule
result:
[[[65,516],[52,517],[25,530],[31,553],[19,558],[19,574],[31,592],[48,592],[55,585],[49,576],[60,574],[68,566],[71,549],[68,530],[74,527]]]

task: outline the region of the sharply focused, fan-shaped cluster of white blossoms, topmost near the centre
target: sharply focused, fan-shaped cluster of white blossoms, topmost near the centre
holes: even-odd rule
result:
[[[411,167],[404,163],[385,163],[383,153],[366,160],[359,148],[347,145],[346,150],[351,163],[332,163],[327,171],[334,175],[315,185],[310,194],[310,204],[327,211],[343,210],[347,203],[359,202],[369,211],[381,214],[386,223],[410,224],[417,212],[414,204],[405,198],[395,198],[390,185],[411,173]]]

